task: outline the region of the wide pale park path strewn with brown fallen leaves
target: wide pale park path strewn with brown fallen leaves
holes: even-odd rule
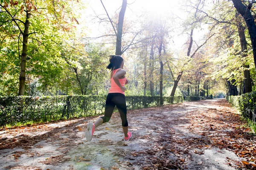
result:
[[[128,111],[85,139],[98,116],[0,131],[0,170],[253,169],[256,137],[224,99]],[[256,165],[255,165],[256,166]]]

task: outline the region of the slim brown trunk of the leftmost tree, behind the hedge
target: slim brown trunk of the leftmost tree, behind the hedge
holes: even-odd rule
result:
[[[20,62],[20,85],[19,85],[19,96],[25,94],[25,80],[26,80],[26,56],[28,49],[28,38],[29,38],[29,18],[31,16],[31,11],[26,13],[26,21],[24,24],[24,33],[23,33],[23,44],[22,44],[22,53],[21,53],[21,62]]]

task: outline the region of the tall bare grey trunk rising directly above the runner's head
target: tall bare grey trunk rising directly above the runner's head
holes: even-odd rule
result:
[[[124,23],[125,10],[127,6],[127,0],[122,1],[122,8],[119,12],[118,24],[117,24],[117,35],[116,35],[116,55],[122,55],[122,27]]]

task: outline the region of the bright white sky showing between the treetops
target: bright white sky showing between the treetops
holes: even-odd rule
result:
[[[119,14],[120,7],[122,6],[122,0],[102,0],[102,2],[105,8],[107,9],[110,17],[113,17],[115,12],[116,14]],[[186,12],[185,6],[182,4],[184,2],[186,1],[128,0],[128,6],[125,11],[125,18],[127,18],[128,20],[138,20],[138,17],[140,17],[140,15],[143,14],[145,11],[150,12],[152,14],[171,14],[176,21],[176,23],[174,24],[178,26],[186,19],[188,14]],[[86,0],[84,1],[84,3],[87,4],[87,8],[83,11],[80,20],[84,20],[81,25],[85,25],[87,27],[87,29],[84,29],[86,37],[99,37],[104,35],[105,26],[99,25],[99,20],[95,19],[96,14],[100,16],[104,16],[106,14],[101,1]],[[188,34],[181,34],[181,31],[182,28],[177,28],[171,33],[171,48],[174,50],[181,50],[184,43],[186,43],[186,41],[188,40]],[[207,27],[204,27],[204,30],[195,30],[193,36],[194,40],[202,39],[202,36],[205,32],[207,32]],[[190,31],[188,31],[187,33],[190,33]]]

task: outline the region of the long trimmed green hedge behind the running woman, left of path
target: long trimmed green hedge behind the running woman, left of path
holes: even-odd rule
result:
[[[0,96],[0,127],[29,121],[47,122],[102,114],[106,96]],[[127,109],[148,108],[202,99],[198,96],[126,96]]]

